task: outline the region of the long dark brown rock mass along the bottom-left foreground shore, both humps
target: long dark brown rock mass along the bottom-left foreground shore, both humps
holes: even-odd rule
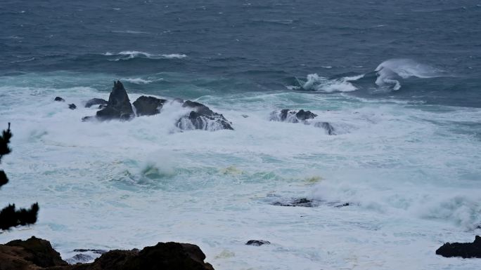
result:
[[[76,257],[78,261],[87,259]],[[197,245],[158,243],[143,250],[111,250],[90,264],[68,265],[49,241],[32,238],[0,245],[1,270],[214,270]],[[73,261],[72,261],[73,262]]]

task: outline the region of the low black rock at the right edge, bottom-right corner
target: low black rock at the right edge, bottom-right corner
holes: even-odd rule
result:
[[[436,250],[443,257],[481,258],[481,236],[476,236],[473,243],[445,243]]]

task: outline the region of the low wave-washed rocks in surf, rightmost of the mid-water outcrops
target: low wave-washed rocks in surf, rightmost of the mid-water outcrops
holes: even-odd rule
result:
[[[271,113],[271,121],[281,121],[288,123],[304,123],[304,125],[311,125],[312,122],[307,120],[315,119],[317,114],[311,111],[296,111],[293,109],[281,109],[281,111],[275,111]],[[328,135],[337,135],[335,128],[328,122],[315,122],[316,128],[323,128]]]

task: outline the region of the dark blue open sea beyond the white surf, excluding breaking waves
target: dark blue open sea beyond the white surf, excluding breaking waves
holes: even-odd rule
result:
[[[0,18],[3,76],[175,74],[136,89],[238,93],[367,74],[349,95],[481,107],[481,1],[1,0]],[[379,90],[373,71],[393,58],[439,72]]]

